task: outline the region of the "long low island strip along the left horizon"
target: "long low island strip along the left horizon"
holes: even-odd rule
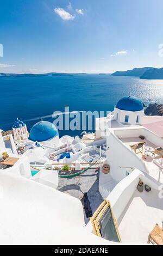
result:
[[[46,74],[11,74],[11,73],[0,73],[0,77],[42,77],[42,76],[73,76],[73,75],[86,75],[86,73],[57,73],[51,72]]]

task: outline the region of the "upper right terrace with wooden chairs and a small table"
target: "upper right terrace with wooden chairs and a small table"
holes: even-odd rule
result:
[[[163,141],[162,139],[155,135],[153,132],[145,129],[144,127],[137,127],[137,128],[129,128],[129,129],[117,129],[114,130],[114,134],[116,137],[123,143],[123,145],[126,146],[127,149],[130,151],[133,151],[131,149],[132,145],[135,145],[137,143],[145,142],[145,144],[142,147],[142,154],[135,154],[135,157],[139,157],[141,164],[141,170],[149,173],[149,175],[152,176],[155,180],[163,183],[163,164],[161,165],[161,154],[151,154],[146,151],[146,147],[150,147],[156,149],[158,147],[163,148]],[[139,136],[144,136],[144,139],[141,139]],[[134,153],[134,151],[133,151]],[[139,153],[139,150],[136,151],[136,153]],[[127,151],[126,151],[127,154]],[[130,154],[128,152],[128,154]],[[131,156],[131,154],[130,154]],[[143,157],[144,156],[144,157]],[[133,156],[133,167],[134,163],[137,162],[136,159],[134,160]],[[140,166],[137,166],[137,168],[140,169]]]

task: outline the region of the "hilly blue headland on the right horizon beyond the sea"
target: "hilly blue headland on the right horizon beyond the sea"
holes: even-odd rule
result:
[[[137,76],[140,79],[148,79],[148,80],[163,80],[163,68],[135,68],[127,71],[116,71],[111,76]]]

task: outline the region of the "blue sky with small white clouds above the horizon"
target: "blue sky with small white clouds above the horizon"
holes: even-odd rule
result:
[[[5,0],[0,72],[163,67],[162,0]]]

